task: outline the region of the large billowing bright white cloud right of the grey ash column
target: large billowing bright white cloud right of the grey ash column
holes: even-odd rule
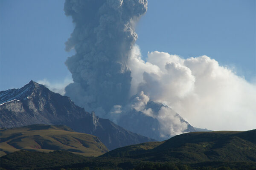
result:
[[[232,69],[205,55],[183,59],[154,51],[148,53],[145,62],[137,45],[132,52],[128,62],[131,95],[144,91],[150,99],[169,105],[196,127],[256,128],[256,85],[237,76]]]

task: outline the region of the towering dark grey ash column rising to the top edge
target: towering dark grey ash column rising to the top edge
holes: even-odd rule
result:
[[[74,81],[65,91],[87,111],[104,116],[128,100],[134,23],[146,10],[147,0],[66,0],[65,14],[76,24],[66,50],[76,54],[65,62]]]

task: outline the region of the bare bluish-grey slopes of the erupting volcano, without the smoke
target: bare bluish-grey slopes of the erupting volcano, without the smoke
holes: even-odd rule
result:
[[[173,127],[167,127],[169,128],[163,128],[163,124],[160,123],[159,119],[157,119],[157,116],[159,116],[159,112],[161,108],[167,108],[169,111],[169,115],[172,115],[172,117],[175,118],[175,120],[178,120],[178,124],[184,124],[186,128],[181,130],[180,133],[187,133],[187,132],[195,132],[195,131],[207,131],[207,129],[199,129],[196,127],[193,127],[188,122],[186,122],[178,113],[174,112],[171,108],[169,108],[166,105],[163,105],[159,102],[154,102],[152,100],[149,100],[147,104],[145,105],[145,110],[151,110],[152,115],[147,115],[143,113],[143,111],[138,111],[134,108],[128,109],[128,111],[122,112],[118,119],[114,118],[113,121],[117,125],[121,125],[127,130],[130,130],[134,133],[139,133],[140,135],[147,136],[152,139],[156,139],[158,141],[163,141],[166,139],[169,139],[172,136],[175,136],[175,132],[173,134],[168,134],[171,129],[175,129],[175,127],[178,127],[175,125],[174,120],[169,120],[168,124],[173,125]],[[111,119],[111,117],[110,117]],[[131,123],[132,122],[132,123]],[[179,130],[179,128],[177,128]],[[167,132],[167,134],[163,132]],[[175,131],[175,130],[174,130]],[[211,131],[211,130],[208,130]]]

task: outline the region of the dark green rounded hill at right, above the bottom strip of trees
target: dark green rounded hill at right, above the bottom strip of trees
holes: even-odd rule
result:
[[[131,149],[132,148],[132,152]],[[135,149],[134,148],[139,148]],[[137,151],[137,152],[136,152]],[[125,154],[128,153],[128,154]],[[256,130],[191,132],[177,135],[151,150],[136,145],[102,156],[129,157],[148,161],[204,162],[256,161]]]

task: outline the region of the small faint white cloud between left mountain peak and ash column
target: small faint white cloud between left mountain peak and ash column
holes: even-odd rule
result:
[[[67,76],[62,82],[49,82],[47,79],[42,79],[37,81],[39,84],[44,85],[49,88],[50,91],[61,94],[65,94],[65,87],[73,82],[71,75]]]

